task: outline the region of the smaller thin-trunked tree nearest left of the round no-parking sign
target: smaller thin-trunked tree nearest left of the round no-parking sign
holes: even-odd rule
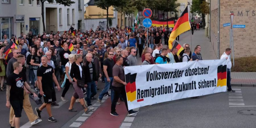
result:
[[[121,14],[121,22],[122,22],[123,15],[128,15],[133,13],[133,11],[135,10],[135,7],[132,6],[130,1],[127,1],[127,0],[120,0],[120,1],[122,4],[117,7],[114,6],[115,8],[114,11],[117,11],[118,13]],[[120,26],[120,28],[122,29],[122,25]]]

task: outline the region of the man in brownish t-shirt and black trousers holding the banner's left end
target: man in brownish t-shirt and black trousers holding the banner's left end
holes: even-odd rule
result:
[[[136,113],[138,113],[139,111],[133,111],[133,110],[128,110],[128,105],[127,105],[127,99],[126,99],[126,92],[125,92],[125,85],[127,84],[125,82],[125,75],[124,75],[124,69],[123,69],[123,57],[118,56],[116,59],[116,63],[113,66],[113,84],[112,84],[112,89],[114,90],[114,99],[112,101],[111,104],[111,112],[110,115],[113,116],[119,116],[116,112],[115,112],[115,106],[116,103],[120,97],[120,94],[123,97],[123,100],[125,102],[125,107],[127,109],[127,111],[129,112],[129,116],[134,115]]]

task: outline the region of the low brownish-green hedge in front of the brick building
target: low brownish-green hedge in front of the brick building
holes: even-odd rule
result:
[[[255,63],[256,63],[256,57],[235,58],[235,67],[232,65],[231,71],[232,72],[256,72]]]

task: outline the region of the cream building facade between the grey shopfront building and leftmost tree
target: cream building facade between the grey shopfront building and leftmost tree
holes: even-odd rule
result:
[[[36,34],[43,33],[43,21],[42,21],[42,5],[37,5],[36,1],[32,1],[32,5],[29,5],[28,0],[23,0],[23,5],[20,3],[20,0],[17,1],[16,4],[17,13],[16,15],[24,15],[24,23],[16,23],[17,34],[16,36],[19,37],[20,33],[23,32],[24,34],[28,34],[30,28],[30,22],[39,22],[39,30]],[[31,19],[35,19],[36,21],[30,21]],[[39,18],[39,20],[38,20]],[[22,25],[22,28],[20,27]]]

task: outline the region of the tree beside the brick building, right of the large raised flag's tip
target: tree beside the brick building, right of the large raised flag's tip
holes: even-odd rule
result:
[[[204,0],[193,0],[193,5],[191,5],[191,11],[202,16],[203,28],[205,27],[205,14],[210,13],[209,3]]]

